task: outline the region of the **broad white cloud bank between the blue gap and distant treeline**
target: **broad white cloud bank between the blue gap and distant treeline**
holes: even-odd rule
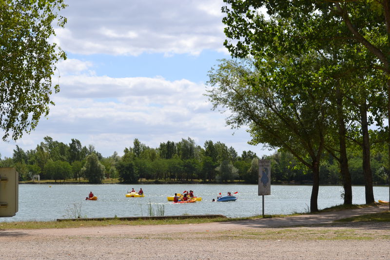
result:
[[[156,148],[160,142],[191,137],[201,146],[206,140],[221,141],[239,153],[251,149],[259,154],[259,148],[246,143],[250,138],[244,130],[232,136],[224,116],[206,102],[204,89],[189,80],[64,76],[61,91],[52,96],[56,105],[49,119],[41,119],[37,129],[17,144],[29,150],[45,136],[64,143],[75,138],[110,156],[114,151],[122,154],[135,138]],[[12,156],[13,149],[14,142],[5,143],[2,158]]]

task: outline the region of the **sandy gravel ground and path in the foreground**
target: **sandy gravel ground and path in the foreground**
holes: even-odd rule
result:
[[[388,206],[202,224],[2,230],[0,259],[389,260],[389,222],[333,222],[385,210]]]

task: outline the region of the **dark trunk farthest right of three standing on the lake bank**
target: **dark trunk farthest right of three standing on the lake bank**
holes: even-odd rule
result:
[[[363,173],[364,185],[366,188],[366,204],[375,202],[374,191],[372,188],[372,172],[370,162],[370,135],[367,121],[367,101],[364,99],[360,109],[361,124],[362,124],[362,150],[363,150]]]

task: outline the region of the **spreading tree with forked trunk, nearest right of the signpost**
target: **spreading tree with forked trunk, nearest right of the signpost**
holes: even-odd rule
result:
[[[266,143],[291,152],[312,170],[311,211],[318,211],[319,163],[327,135],[326,81],[318,84],[317,57],[275,56],[273,60],[222,60],[210,72],[207,96],[214,108],[232,112],[227,123],[249,126],[252,144]],[[261,64],[260,64],[261,63]],[[302,77],[296,77],[301,75]],[[316,92],[311,92],[315,88]]]

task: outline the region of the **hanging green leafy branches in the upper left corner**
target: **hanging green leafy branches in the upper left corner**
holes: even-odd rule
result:
[[[20,139],[47,116],[56,64],[65,53],[50,40],[63,27],[63,0],[0,1],[0,128],[2,140]],[[59,85],[54,85],[59,92]]]

